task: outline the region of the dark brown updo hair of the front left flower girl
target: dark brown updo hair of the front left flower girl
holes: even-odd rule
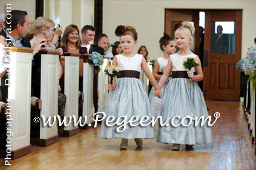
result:
[[[115,30],[116,37],[121,37],[125,35],[131,35],[134,41],[137,41],[138,35],[134,27],[132,26],[117,26]]]

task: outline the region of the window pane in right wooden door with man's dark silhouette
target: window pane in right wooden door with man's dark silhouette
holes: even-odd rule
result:
[[[211,53],[235,54],[235,22],[211,22]],[[206,38],[206,37],[204,37]]]

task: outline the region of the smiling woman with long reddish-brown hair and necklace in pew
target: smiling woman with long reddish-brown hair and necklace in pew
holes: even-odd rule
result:
[[[63,52],[73,52],[80,53],[80,59],[83,58],[83,54],[88,54],[86,47],[81,47],[81,37],[79,35],[79,29],[76,25],[71,24],[67,26],[64,30],[62,36],[62,46]],[[63,56],[64,57],[64,56]]]

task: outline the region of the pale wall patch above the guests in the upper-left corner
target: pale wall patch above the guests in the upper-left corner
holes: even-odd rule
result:
[[[35,0],[0,0],[0,12],[6,12],[6,4],[9,3],[12,4],[11,10],[27,11],[29,20],[35,20]]]

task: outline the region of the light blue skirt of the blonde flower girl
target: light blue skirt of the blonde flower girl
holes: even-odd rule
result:
[[[195,127],[195,120],[184,127],[182,125],[174,127],[171,120],[174,116],[175,125],[181,122],[181,119],[187,115],[198,119],[208,115],[204,96],[197,82],[189,82],[189,79],[175,78],[166,85],[164,96],[162,99],[161,113],[163,123],[169,118],[169,126],[159,126],[157,134],[157,142],[177,143],[177,144],[207,144],[212,142],[212,130],[208,126],[208,120],[201,127],[201,122]],[[213,118],[215,119],[215,118]],[[185,125],[189,123],[189,119],[185,119]]]

